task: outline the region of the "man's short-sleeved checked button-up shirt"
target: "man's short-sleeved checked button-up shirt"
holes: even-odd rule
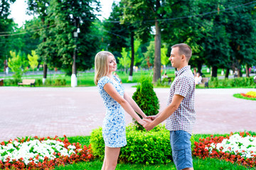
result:
[[[192,135],[193,125],[196,122],[195,86],[195,79],[190,66],[183,67],[176,72],[176,77],[171,84],[167,106],[175,94],[184,98],[178,109],[167,118],[167,130],[184,130]]]

